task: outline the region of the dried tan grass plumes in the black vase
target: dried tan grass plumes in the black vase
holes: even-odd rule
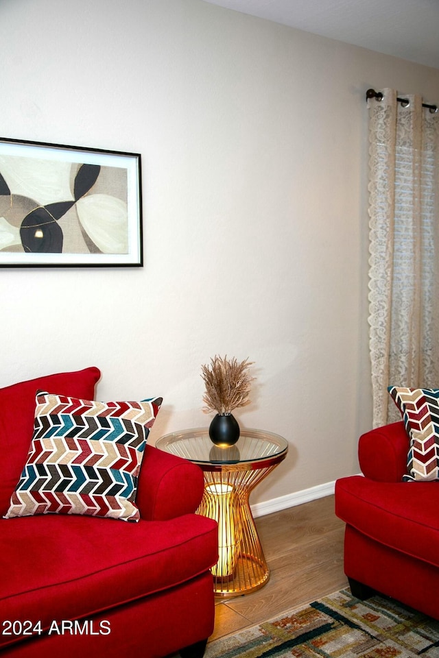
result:
[[[227,356],[214,356],[209,365],[202,365],[201,376],[206,387],[203,411],[216,411],[220,415],[230,414],[239,406],[250,404],[248,393],[254,377],[250,377],[248,369],[252,361],[239,363],[236,358],[229,360]]]

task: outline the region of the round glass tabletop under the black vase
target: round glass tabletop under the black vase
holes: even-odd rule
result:
[[[287,441],[273,432],[241,428],[234,446],[215,446],[209,428],[171,432],[156,441],[156,448],[171,452],[196,464],[241,464],[282,459],[288,450]]]

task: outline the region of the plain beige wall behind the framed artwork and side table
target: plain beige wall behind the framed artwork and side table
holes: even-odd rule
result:
[[[204,425],[200,365],[256,362],[264,502],[357,472],[370,427],[368,87],[439,71],[202,0],[0,0],[1,136],[142,155],[143,269],[1,269],[0,385],[97,365]]]

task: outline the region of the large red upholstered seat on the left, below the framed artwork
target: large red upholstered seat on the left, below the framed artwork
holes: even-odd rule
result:
[[[202,656],[213,631],[217,524],[195,514],[198,466],[146,446],[138,523],[47,514],[5,520],[36,389],[93,399],[88,368],[0,389],[0,651],[4,656]]]

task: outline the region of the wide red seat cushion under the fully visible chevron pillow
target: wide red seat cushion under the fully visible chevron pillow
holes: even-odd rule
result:
[[[0,609],[11,620],[25,611],[43,629],[174,587],[217,559],[217,524],[195,514],[138,524],[58,515],[0,523]]]

